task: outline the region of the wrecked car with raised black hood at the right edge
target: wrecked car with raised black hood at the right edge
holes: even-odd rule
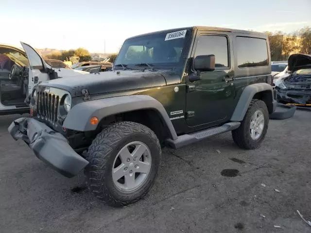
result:
[[[289,76],[276,85],[277,101],[311,107],[311,55],[293,54],[288,59]]]

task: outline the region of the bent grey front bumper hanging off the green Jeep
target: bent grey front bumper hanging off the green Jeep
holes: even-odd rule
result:
[[[77,175],[88,161],[77,154],[67,139],[42,122],[22,117],[8,128],[15,140],[22,139],[35,152],[35,156],[66,177]]]

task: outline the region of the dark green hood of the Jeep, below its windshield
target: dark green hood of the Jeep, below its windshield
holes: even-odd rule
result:
[[[72,97],[78,97],[82,96],[83,89],[87,89],[90,95],[96,95],[164,86],[166,81],[157,71],[114,70],[55,79],[39,85],[64,89],[69,91]]]

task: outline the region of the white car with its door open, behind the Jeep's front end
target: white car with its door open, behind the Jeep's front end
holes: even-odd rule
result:
[[[0,44],[0,115],[29,113],[25,103],[38,83],[89,72],[52,67],[28,44],[22,47]]]

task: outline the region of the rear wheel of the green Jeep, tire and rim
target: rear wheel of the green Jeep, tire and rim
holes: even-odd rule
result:
[[[260,121],[263,122],[262,129],[260,129],[260,125],[262,124],[260,124],[259,121],[256,121],[255,115],[259,116],[260,119],[261,116],[264,117],[264,119]],[[265,102],[254,99],[249,104],[244,119],[241,122],[241,126],[232,131],[233,141],[241,148],[248,150],[256,149],[260,146],[266,136],[268,124],[269,112]],[[252,127],[254,129],[251,129]],[[257,131],[260,133],[257,133]]]

